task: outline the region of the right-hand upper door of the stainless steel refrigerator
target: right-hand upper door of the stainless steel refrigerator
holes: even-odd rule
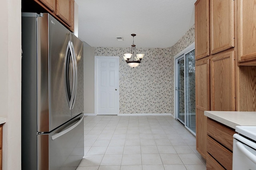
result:
[[[74,52],[77,63],[77,90],[76,101],[72,109],[72,117],[84,113],[84,48],[83,42],[71,33],[71,41],[74,44]]]

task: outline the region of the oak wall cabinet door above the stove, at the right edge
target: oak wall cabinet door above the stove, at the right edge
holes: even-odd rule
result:
[[[256,59],[256,0],[237,1],[238,60]]]

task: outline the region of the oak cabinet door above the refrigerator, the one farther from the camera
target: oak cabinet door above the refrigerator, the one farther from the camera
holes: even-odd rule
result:
[[[74,0],[56,0],[56,15],[69,26],[74,21]]]

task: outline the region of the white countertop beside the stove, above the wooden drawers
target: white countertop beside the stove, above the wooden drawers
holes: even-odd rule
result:
[[[256,111],[204,111],[204,115],[233,129],[236,126],[256,126]]]

